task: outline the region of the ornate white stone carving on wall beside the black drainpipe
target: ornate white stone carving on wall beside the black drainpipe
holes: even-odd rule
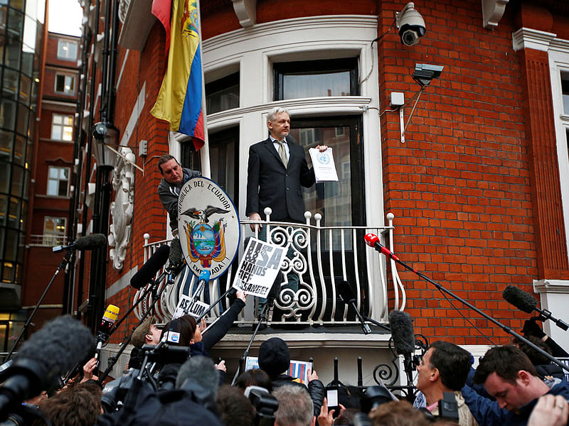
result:
[[[109,232],[109,256],[117,271],[122,269],[132,231],[132,212],[134,209],[134,163],[136,157],[130,148],[119,147],[119,152],[128,161],[119,157],[112,173],[112,189],[115,201],[111,203],[111,225]],[[132,162],[132,163],[129,163]]]

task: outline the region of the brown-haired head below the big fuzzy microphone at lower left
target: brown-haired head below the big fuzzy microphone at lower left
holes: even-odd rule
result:
[[[53,426],[95,425],[102,413],[101,388],[80,383],[41,401],[39,408]]]

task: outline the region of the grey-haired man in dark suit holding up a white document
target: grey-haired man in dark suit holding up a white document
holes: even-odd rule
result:
[[[270,207],[271,221],[304,222],[304,200],[302,187],[314,185],[314,170],[308,167],[304,148],[287,140],[290,131],[290,114],[285,108],[273,108],[267,114],[267,127],[270,136],[249,148],[247,172],[247,207],[245,215],[251,220],[265,220],[265,207]],[[326,151],[327,146],[317,146]],[[251,224],[251,229],[259,226],[259,238],[266,240],[266,229],[262,224]],[[287,255],[292,257],[292,249]],[[288,285],[295,293],[298,290],[297,274],[287,275]],[[261,301],[261,304],[263,302]]]

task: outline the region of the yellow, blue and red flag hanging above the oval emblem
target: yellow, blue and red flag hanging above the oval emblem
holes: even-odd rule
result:
[[[150,114],[169,121],[171,131],[193,137],[196,149],[205,134],[202,111],[202,79],[197,0],[174,0],[168,68]]]

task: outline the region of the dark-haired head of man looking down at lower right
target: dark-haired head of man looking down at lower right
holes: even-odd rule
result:
[[[484,384],[500,408],[516,410],[546,393],[528,356],[516,346],[495,346],[480,359],[474,383]]]

